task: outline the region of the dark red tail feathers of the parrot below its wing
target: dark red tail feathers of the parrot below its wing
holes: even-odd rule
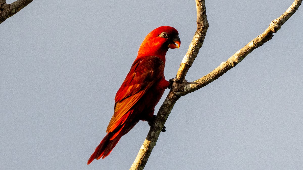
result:
[[[95,149],[95,152],[91,155],[91,157],[87,161],[87,165],[90,164],[94,159],[104,159],[108,156],[112,150],[114,149],[115,145],[117,145],[118,141],[122,137],[122,135],[116,135],[112,132],[109,132],[100,142],[100,144]],[[114,139],[111,139],[114,138]]]

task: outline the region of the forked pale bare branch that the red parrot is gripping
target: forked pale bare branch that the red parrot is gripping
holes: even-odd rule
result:
[[[241,50],[237,51],[233,56],[228,58],[227,61],[222,62],[215,70],[211,73],[201,77],[198,80],[188,83],[185,80],[188,69],[194,62],[199,49],[201,48],[206,31],[208,29],[208,21],[206,16],[205,0],[196,0],[197,7],[197,31],[194,35],[193,40],[189,46],[188,52],[183,58],[178,73],[176,75],[177,80],[181,80],[181,83],[174,83],[172,89],[168,93],[164,103],[160,107],[157,117],[153,122],[148,135],[140,148],[140,151],[132,164],[130,170],[142,170],[151,154],[152,149],[156,145],[161,129],[164,126],[169,114],[176,101],[188,93],[198,90],[212,81],[219,78],[221,75],[226,73],[231,68],[235,67],[241,60],[243,60],[251,51],[260,47],[265,42],[269,41],[273,37],[273,33],[276,33],[281,26],[297,11],[301,5],[302,0],[295,0],[293,4],[282,14],[279,18],[273,20],[269,27],[260,34],[257,38],[250,41]]]

